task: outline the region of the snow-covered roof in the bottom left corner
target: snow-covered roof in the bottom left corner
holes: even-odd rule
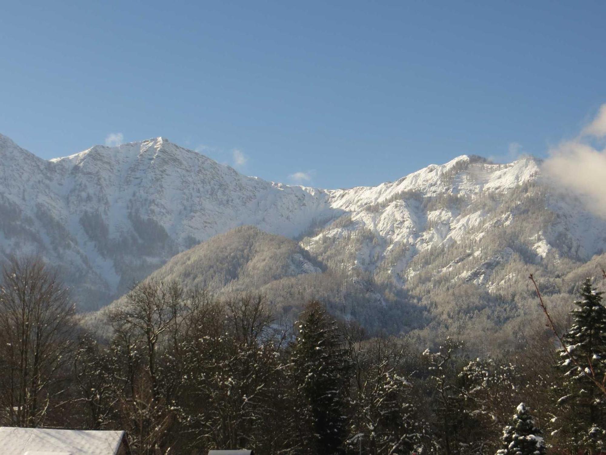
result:
[[[0,427],[2,455],[116,455],[124,431]]]

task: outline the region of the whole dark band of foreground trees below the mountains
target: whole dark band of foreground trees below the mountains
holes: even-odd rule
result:
[[[40,260],[0,285],[0,424],[125,430],[133,454],[598,454],[606,309],[591,280],[570,326],[474,358],[368,337],[313,301],[281,322],[263,295],[144,281],[102,327]]]

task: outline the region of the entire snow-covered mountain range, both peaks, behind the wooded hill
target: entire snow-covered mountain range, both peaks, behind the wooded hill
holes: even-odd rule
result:
[[[46,161],[0,135],[0,255],[58,265],[82,308],[245,224],[409,294],[427,277],[494,293],[517,261],[581,264],[606,246],[605,221],[542,181],[532,158],[464,155],[393,183],[322,190],[245,177],[165,138]]]

